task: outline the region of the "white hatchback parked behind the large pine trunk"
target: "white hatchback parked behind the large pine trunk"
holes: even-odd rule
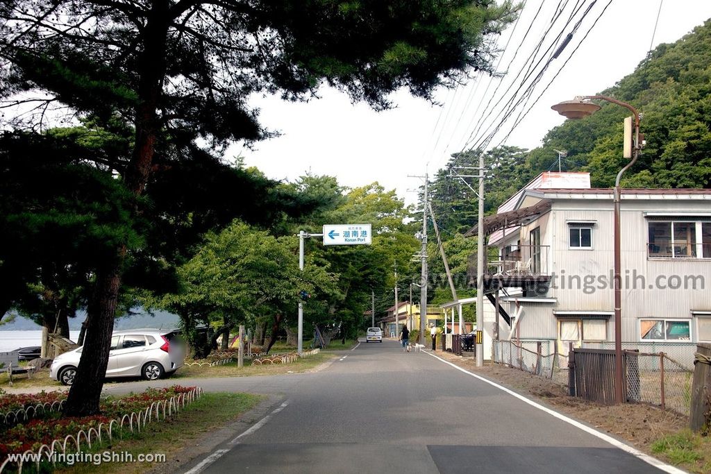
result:
[[[50,377],[71,385],[77,374],[82,348],[58,355]],[[106,377],[143,377],[156,380],[171,375],[183,365],[185,347],[174,330],[129,329],[111,337]]]

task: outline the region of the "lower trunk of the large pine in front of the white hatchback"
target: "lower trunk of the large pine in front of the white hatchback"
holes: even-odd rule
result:
[[[77,375],[69,389],[65,416],[91,416],[99,413],[99,399],[109,362],[114,314],[121,286],[120,264],[98,271],[92,301],[87,311],[87,333]]]

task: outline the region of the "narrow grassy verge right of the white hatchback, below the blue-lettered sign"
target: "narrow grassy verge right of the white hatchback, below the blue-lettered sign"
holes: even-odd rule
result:
[[[277,351],[278,352],[278,351]],[[255,375],[279,375],[289,372],[301,373],[313,370],[315,367],[328,362],[328,360],[336,357],[335,354],[319,353],[311,357],[296,360],[290,364],[277,365],[251,365],[252,362],[245,360],[245,365],[242,368],[237,367],[237,362],[228,362],[225,365],[216,365],[215,367],[183,366],[179,368],[171,379],[183,379],[192,377],[249,377]]]

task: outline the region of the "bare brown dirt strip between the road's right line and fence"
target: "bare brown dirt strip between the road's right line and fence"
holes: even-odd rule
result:
[[[522,370],[500,364],[492,366],[488,362],[484,367],[476,367],[473,357],[459,357],[441,351],[436,354],[459,367],[536,399],[574,419],[584,421],[599,431],[627,441],[640,451],[655,457],[658,457],[658,454],[652,453],[651,450],[654,441],[688,427],[688,419],[673,411],[662,411],[646,404],[595,404],[578,397],[569,397],[567,387]]]

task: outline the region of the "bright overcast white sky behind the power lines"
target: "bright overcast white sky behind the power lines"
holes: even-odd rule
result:
[[[540,145],[545,132],[563,121],[550,109],[552,104],[575,95],[592,95],[614,85],[645,58],[652,38],[654,46],[672,43],[711,17],[710,0],[663,0],[653,36],[659,0],[613,0],[587,39],[572,54],[608,1],[594,3],[570,44],[550,63],[530,102],[517,109],[512,119],[501,126],[491,146],[501,143],[509,131],[506,144],[528,149]],[[560,31],[564,34],[572,31],[572,24],[563,28],[575,2],[569,3],[569,9],[546,36],[543,48],[547,48]],[[585,8],[591,3],[592,0],[586,1]],[[541,4],[538,19],[533,21]],[[419,182],[407,175],[424,174],[426,168],[433,173],[447,162],[451,153],[471,146],[467,144],[469,136],[498,82],[501,81],[501,86],[492,105],[501,100],[508,85],[513,85],[512,90],[518,86],[520,79],[515,81],[514,77],[550,26],[552,8],[557,4],[552,0],[526,1],[518,26],[514,28],[512,24],[498,40],[501,50],[509,43],[500,54],[501,62],[499,59],[495,62],[499,72],[506,72],[510,64],[508,74],[501,80],[491,80],[491,84],[484,75],[477,76],[466,87],[439,90],[436,97],[442,107],[410,97],[407,91],[393,95],[397,108],[385,112],[374,112],[365,104],[351,104],[346,95],[326,87],[320,92],[321,99],[307,103],[255,97],[252,105],[261,109],[262,124],[281,132],[282,136],[256,144],[254,150],[234,146],[230,153],[242,153],[247,165],[257,166],[271,178],[292,181],[310,171],[336,176],[340,183],[348,186],[378,181],[388,189],[395,188],[400,197],[411,203],[415,195],[407,190],[416,188]],[[529,26],[528,36],[514,59],[514,51]],[[571,54],[570,61],[538,104],[513,127],[518,111],[525,112],[530,107]],[[493,109],[492,118],[498,110]],[[481,136],[487,126],[484,122],[474,138]],[[551,161],[554,159],[552,156]]]

